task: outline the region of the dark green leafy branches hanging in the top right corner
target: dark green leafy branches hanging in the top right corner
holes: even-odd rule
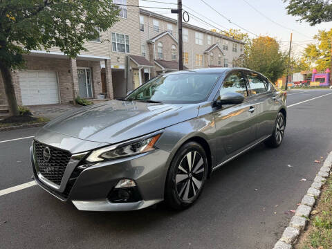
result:
[[[284,0],[287,14],[299,17],[311,26],[332,21],[332,3],[326,0]]]

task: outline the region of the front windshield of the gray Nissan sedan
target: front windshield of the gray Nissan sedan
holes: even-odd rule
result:
[[[196,103],[206,98],[220,75],[179,73],[160,75],[140,86],[124,100],[165,103]]]

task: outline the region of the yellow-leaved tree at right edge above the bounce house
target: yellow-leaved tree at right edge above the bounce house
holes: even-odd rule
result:
[[[324,72],[331,65],[332,28],[329,31],[319,30],[313,38],[317,40],[317,44],[308,44],[303,58],[311,67]]]

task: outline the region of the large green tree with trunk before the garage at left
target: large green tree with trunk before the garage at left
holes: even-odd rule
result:
[[[76,57],[119,11],[111,0],[0,0],[0,69],[12,115],[19,111],[10,68],[24,68],[24,54],[57,46]]]

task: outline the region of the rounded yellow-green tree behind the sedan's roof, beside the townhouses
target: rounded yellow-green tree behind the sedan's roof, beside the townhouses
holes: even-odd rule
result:
[[[274,38],[261,36],[251,40],[248,50],[245,51],[243,66],[276,82],[284,74],[287,59],[287,53],[280,50]]]

